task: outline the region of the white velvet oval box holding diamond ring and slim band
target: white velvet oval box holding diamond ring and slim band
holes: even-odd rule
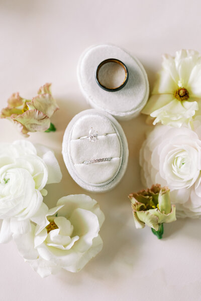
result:
[[[128,143],[110,114],[89,109],[75,115],[63,137],[62,154],[70,176],[93,192],[113,189],[128,163]]]

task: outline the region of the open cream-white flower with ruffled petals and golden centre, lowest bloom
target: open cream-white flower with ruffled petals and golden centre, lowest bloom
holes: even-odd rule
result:
[[[61,268],[78,272],[103,247],[98,233],[105,216],[95,200],[69,195],[57,205],[48,211],[43,203],[31,231],[14,235],[20,254],[41,277]]]

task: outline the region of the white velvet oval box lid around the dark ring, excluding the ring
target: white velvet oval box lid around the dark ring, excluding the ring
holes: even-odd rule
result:
[[[97,66],[111,58],[122,61],[129,73],[127,84],[115,92],[105,91],[95,79]],[[149,82],[144,67],[136,57],[114,45],[96,45],[86,49],[78,62],[77,77],[91,107],[104,110],[117,119],[136,117],[148,100]]]

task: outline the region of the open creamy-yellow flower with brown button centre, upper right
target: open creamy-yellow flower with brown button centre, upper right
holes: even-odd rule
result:
[[[193,50],[180,50],[175,57],[163,56],[162,70],[152,95],[142,110],[154,117],[153,124],[180,127],[200,115],[201,56]]]

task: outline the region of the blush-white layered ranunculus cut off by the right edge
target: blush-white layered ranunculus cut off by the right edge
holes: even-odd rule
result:
[[[140,150],[142,182],[170,188],[177,217],[201,215],[201,122],[187,127],[158,125]]]

